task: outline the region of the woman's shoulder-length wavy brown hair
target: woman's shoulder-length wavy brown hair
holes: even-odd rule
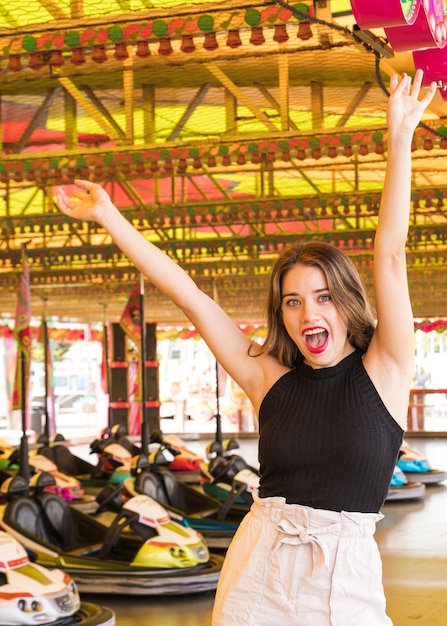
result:
[[[301,352],[284,327],[281,311],[284,276],[298,263],[320,268],[335,306],[346,319],[350,343],[365,351],[371,341],[375,321],[357,269],[349,257],[335,246],[308,241],[285,248],[273,266],[266,305],[267,337],[260,353],[275,356],[287,367],[294,367],[302,359]]]

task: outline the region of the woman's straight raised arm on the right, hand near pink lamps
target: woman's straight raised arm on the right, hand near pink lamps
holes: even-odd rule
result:
[[[436,85],[421,96],[423,73],[414,81],[392,76],[388,101],[388,154],[374,242],[377,328],[365,367],[391,414],[405,423],[413,375],[413,312],[408,290],[405,245],[411,199],[411,144]],[[402,393],[396,390],[402,389]]]

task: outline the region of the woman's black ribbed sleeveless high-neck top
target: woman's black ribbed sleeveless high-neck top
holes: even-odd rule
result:
[[[382,507],[403,438],[360,351],[284,374],[262,401],[259,434],[261,498],[359,513]]]

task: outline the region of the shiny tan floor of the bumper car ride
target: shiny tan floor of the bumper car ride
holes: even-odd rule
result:
[[[206,442],[188,441],[202,453]],[[408,440],[433,469],[447,470],[447,439]],[[247,462],[256,459],[257,441],[241,440]],[[385,503],[377,526],[387,596],[394,626],[447,625],[447,481],[427,486],[420,500]],[[142,598],[89,596],[116,612],[117,626],[210,626],[213,594]],[[230,626],[230,625],[229,625]],[[280,626],[272,624],[272,626]],[[281,625],[282,626],[282,625]],[[359,624],[361,626],[361,624]]]

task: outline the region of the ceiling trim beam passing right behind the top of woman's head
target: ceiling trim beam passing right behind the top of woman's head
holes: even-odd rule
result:
[[[246,273],[268,273],[272,260],[290,243],[317,240],[327,241],[351,256],[362,269],[372,268],[372,251],[375,228],[351,226],[350,230],[277,232],[265,236],[249,233],[221,239],[187,240],[171,239],[160,242],[158,247],[181,262],[194,276],[212,276],[220,272],[235,275]],[[447,223],[429,228],[413,226],[408,234],[408,264],[417,268],[430,266],[447,267],[445,245]],[[20,272],[20,250],[0,250],[0,275],[2,287],[9,284]],[[127,257],[113,244],[95,245],[90,242],[72,247],[29,247],[27,259],[31,272],[31,284],[52,282],[74,282],[82,276],[88,282],[105,280],[105,275],[120,274],[136,270]],[[9,277],[9,279],[8,279]],[[59,278],[58,278],[59,277]],[[116,278],[116,277],[115,277]]]

